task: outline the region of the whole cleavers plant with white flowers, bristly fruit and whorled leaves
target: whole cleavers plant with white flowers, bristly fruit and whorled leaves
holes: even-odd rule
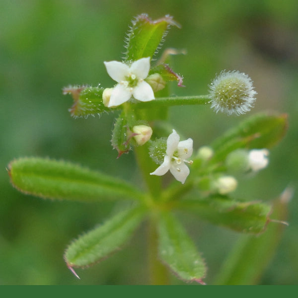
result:
[[[74,240],[65,252],[65,261],[86,267],[107,257],[148,221],[152,284],[166,284],[166,270],[186,282],[204,284],[205,262],[193,240],[176,218],[177,211],[198,215],[212,224],[238,232],[260,234],[278,215],[270,218],[272,206],[259,201],[235,200],[237,175],[256,173],[268,164],[268,153],[284,136],[287,116],[261,113],[227,131],[210,146],[193,152],[193,140],[180,140],[168,129],[167,111],[173,105],[211,104],[216,112],[246,113],[253,106],[256,91],[251,79],[239,72],[222,72],[213,80],[208,95],[169,97],[169,82],[183,86],[182,76],[166,63],[165,51],[153,60],[170,26],[180,27],[171,16],[152,21],[137,16],[126,37],[122,62],[104,62],[115,86],[68,86],[73,117],[87,117],[116,111],[112,146],[123,153],[134,150],[146,189],[129,181],[110,177],[70,162],[48,158],[19,158],[8,165],[15,188],[41,198],[97,202],[128,200],[130,208]],[[183,107],[181,107],[183,109]],[[118,112],[119,111],[119,112]],[[158,129],[155,122],[158,120]],[[164,125],[163,125],[164,124]],[[162,135],[161,135],[162,134]],[[162,176],[174,178],[162,187]],[[78,277],[78,276],[77,276]]]

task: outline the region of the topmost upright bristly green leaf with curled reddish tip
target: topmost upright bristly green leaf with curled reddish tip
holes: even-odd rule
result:
[[[127,34],[126,61],[152,57],[160,47],[169,27],[180,27],[171,16],[152,21],[147,14],[136,17]]]

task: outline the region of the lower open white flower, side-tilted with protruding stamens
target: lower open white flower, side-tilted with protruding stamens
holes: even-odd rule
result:
[[[179,140],[179,135],[173,130],[166,141],[166,155],[163,163],[150,175],[162,176],[170,170],[176,180],[182,184],[185,182],[189,175],[189,168],[184,162],[192,163],[191,160],[188,161],[186,158],[189,158],[192,154],[193,140],[190,138],[181,142]]]

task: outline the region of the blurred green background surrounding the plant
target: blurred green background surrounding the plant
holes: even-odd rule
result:
[[[112,86],[103,61],[120,60],[131,19],[165,14],[172,28],[163,49],[186,49],[173,58],[185,88],[173,94],[207,94],[221,70],[249,74],[258,92],[245,116],[215,114],[209,106],[172,107],[170,123],[194,147],[208,145],[226,129],[258,111],[289,114],[285,139],[271,150],[270,165],[240,181],[235,196],[269,201],[297,185],[298,168],[298,1],[297,0],[15,0],[0,9],[0,284],[147,284],[145,225],[124,249],[85,270],[77,280],[63,253],[78,234],[101,223],[121,204],[45,201],[25,196],[9,183],[8,162],[21,156],[50,156],[138,181],[134,154],[121,156],[110,145],[114,114],[73,119],[68,84]],[[289,204],[289,227],[259,280],[265,285],[298,284],[298,201]],[[185,219],[208,264],[212,283],[239,234]],[[245,257],[245,256],[243,256]],[[171,276],[173,284],[183,284]]]

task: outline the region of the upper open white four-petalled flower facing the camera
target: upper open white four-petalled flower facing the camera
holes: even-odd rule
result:
[[[154,93],[144,79],[150,70],[150,57],[141,58],[131,66],[119,61],[104,62],[110,77],[118,82],[113,88],[108,107],[118,106],[128,101],[132,95],[140,101],[154,99]]]

